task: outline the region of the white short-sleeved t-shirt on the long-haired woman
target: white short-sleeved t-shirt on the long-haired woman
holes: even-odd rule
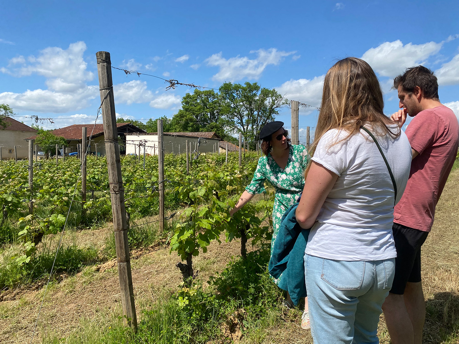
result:
[[[397,133],[397,125],[388,128]],[[402,197],[411,166],[411,146],[402,131],[376,136],[391,166],[397,184],[397,202]],[[312,158],[338,175],[309,233],[305,252],[341,261],[376,261],[397,256],[392,236],[394,187],[386,163],[368,133],[345,138],[332,129],[319,141]]]

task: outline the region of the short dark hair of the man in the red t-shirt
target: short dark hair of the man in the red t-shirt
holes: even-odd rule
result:
[[[403,74],[394,79],[394,89],[402,89],[408,93],[414,93],[414,88],[419,86],[427,99],[438,100],[438,82],[433,72],[424,66],[407,68]]]

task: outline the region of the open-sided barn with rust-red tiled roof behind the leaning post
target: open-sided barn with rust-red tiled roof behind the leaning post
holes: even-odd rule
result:
[[[105,155],[105,143],[104,143],[104,125],[103,124],[73,124],[68,127],[59,128],[53,130],[53,134],[56,136],[62,136],[64,139],[67,140],[67,147],[65,149],[65,154],[73,153],[77,151],[77,144],[81,144],[81,134],[83,127],[87,129],[87,140],[89,140],[91,132],[91,142],[89,142],[88,152],[95,153],[97,150],[98,155]],[[94,128],[94,130],[93,130]],[[118,137],[120,139],[120,153],[125,154],[126,145],[125,145],[125,137],[124,134],[126,133],[145,133],[144,130],[137,128],[131,123],[117,123],[118,128]],[[36,139],[37,135],[27,138],[29,139]]]

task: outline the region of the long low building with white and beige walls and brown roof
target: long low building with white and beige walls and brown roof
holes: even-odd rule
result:
[[[157,133],[127,133],[126,135],[126,154],[143,154],[143,144],[145,143],[145,153],[157,155],[158,134]],[[191,150],[209,153],[217,152],[218,144],[222,139],[215,132],[196,132],[196,133],[163,133],[165,153],[184,153],[185,141],[191,144]],[[225,146],[226,147],[226,146]]]

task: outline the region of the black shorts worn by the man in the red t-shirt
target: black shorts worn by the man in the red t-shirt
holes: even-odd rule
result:
[[[395,223],[392,226],[397,258],[392,294],[403,295],[407,282],[421,282],[421,246],[429,232]]]

